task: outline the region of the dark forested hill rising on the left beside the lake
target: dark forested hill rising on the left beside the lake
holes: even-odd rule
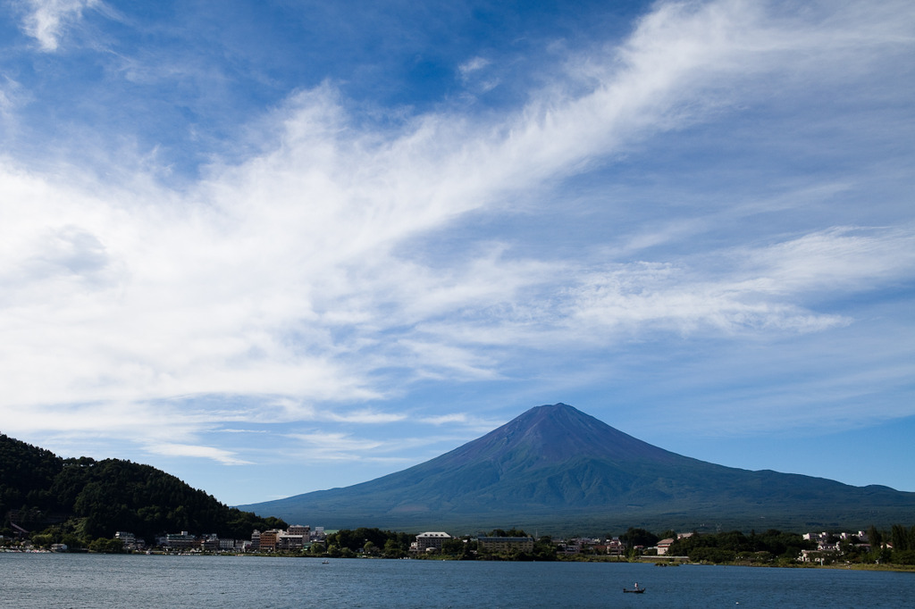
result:
[[[0,534],[15,525],[56,529],[81,540],[117,530],[151,540],[166,532],[248,538],[253,529],[285,523],[229,508],[202,490],[150,465],[119,459],[63,459],[0,434]],[[12,517],[12,518],[11,518]]]

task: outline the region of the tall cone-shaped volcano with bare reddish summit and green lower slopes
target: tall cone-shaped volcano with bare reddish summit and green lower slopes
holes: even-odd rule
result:
[[[705,463],[554,404],[402,472],[240,508],[328,528],[860,529],[910,522],[915,493]]]

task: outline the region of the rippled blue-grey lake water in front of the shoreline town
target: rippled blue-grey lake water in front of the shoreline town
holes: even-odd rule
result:
[[[644,594],[624,594],[639,582]],[[0,554],[3,607],[913,607],[915,573]]]

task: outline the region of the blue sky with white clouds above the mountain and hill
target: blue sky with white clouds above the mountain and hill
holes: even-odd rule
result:
[[[239,505],[565,402],[915,491],[912,58],[910,0],[3,0],[0,432]]]

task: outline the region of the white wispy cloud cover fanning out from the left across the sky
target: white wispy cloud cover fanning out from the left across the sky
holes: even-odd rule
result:
[[[32,5],[29,32],[53,50],[95,3]],[[910,278],[910,231],[819,227],[663,262],[620,262],[612,248],[585,245],[574,262],[512,256],[511,243],[472,237],[462,257],[426,254],[430,235],[458,220],[543,201],[556,181],[730,107],[746,83],[838,73],[837,50],[865,63],[881,48],[910,48],[905,18],[881,8],[862,29],[853,16],[840,9],[809,23],[755,3],[660,5],[625,45],[590,58],[600,69],[563,77],[577,88],[541,91],[492,123],[430,113],[373,132],[332,87],[303,91],[264,119],[259,155],[214,164],[184,191],[3,159],[0,408],[48,413],[12,429],[62,429],[75,417],[53,413],[73,402],[87,419],[118,411],[135,427],[155,414],[148,404],[165,401],[188,437],[214,420],[381,424],[404,415],[330,409],[391,397],[417,378],[499,379],[503,354],[489,347],[845,325],[806,294]],[[629,251],[682,239],[681,230],[642,236]],[[213,394],[270,398],[223,411],[177,403]],[[300,439],[339,458],[377,447],[346,435]],[[234,458],[190,440],[166,446],[156,450]]]

